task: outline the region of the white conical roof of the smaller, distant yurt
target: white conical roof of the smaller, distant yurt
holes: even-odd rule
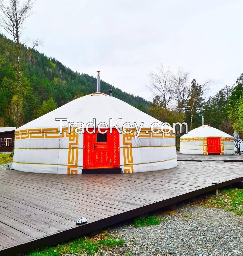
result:
[[[230,137],[233,138],[231,135],[222,132],[216,128],[213,128],[209,125],[202,125],[198,128],[195,128],[184,134],[181,138],[197,138],[197,137]]]

